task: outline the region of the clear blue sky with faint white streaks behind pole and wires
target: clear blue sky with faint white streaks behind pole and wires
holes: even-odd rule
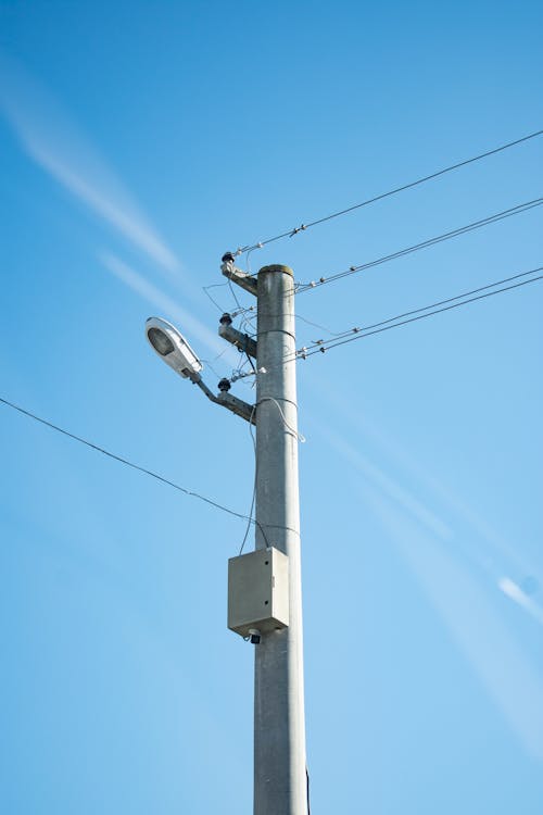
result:
[[[215,387],[238,364],[232,294],[202,291],[223,252],[541,129],[542,22],[534,0],[0,0],[0,397],[245,514],[247,424],[144,319]],[[251,268],[318,279],[540,198],[542,139]],[[299,346],[541,266],[541,213],[300,293]],[[313,815],[543,811],[542,296],[298,364]],[[1,812],[249,815],[244,522],[5,404],[0,450]]]

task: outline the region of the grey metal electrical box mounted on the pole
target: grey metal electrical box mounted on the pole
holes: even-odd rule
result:
[[[228,628],[242,637],[289,625],[289,559],[274,547],[228,561]]]

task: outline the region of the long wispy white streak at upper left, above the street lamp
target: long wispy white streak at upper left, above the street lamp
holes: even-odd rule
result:
[[[162,268],[179,269],[172,250],[59,103],[2,54],[0,110],[36,164]]]

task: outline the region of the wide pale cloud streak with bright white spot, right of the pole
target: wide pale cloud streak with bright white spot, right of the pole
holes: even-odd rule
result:
[[[491,601],[492,586],[543,623],[541,609],[508,577],[481,586],[451,548],[451,528],[409,490],[383,473],[339,434],[319,428],[331,447],[364,476],[368,506],[408,561],[480,681],[525,750],[543,762],[543,682]],[[497,595],[496,595],[497,597]]]

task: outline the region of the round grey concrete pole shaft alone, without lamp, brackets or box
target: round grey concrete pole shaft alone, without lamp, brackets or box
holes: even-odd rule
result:
[[[294,280],[257,279],[256,549],[288,555],[290,615],[255,647],[254,815],[306,815]]]

